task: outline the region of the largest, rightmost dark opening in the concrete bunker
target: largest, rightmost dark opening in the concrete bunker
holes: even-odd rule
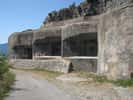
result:
[[[97,33],[82,33],[63,41],[64,57],[97,57]]]

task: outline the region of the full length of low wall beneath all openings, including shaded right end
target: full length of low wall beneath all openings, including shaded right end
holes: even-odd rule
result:
[[[45,60],[28,60],[28,59],[11,59],[9,63],[18,69],[45,69],[68,73],[70,71],[87,71],[97,72],[97,59],[45,59]]]

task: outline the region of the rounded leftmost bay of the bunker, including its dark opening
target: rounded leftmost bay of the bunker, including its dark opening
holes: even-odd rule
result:
[[[9,39],[9,58],[32,58],[33,30],[13,33]]]

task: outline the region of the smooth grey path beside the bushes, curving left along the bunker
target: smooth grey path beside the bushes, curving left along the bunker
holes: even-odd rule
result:
[[[16,71],[16,83],[6,100],[79,100],[39,76]]]

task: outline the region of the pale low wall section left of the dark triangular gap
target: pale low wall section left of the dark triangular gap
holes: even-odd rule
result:
[[[70,62],[64,60],[10,60],[9,63],[14,68],[19,69],[45,69],[49,71],[57,71],[68,73],[70,69]]]

